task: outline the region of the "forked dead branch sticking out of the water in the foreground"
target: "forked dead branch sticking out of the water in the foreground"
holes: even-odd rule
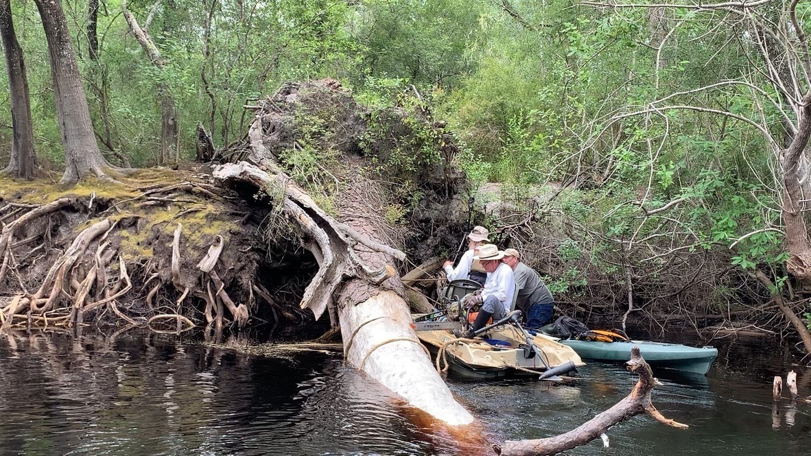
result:
[[[611,426],[641,413],[647,413],[654,420],[668,426],[686,429],[687,424],[665,418],[650,402],[650,392],[659,385],[659,381],[654,378],[650,366],[639,354],[639,347],[634,346],[631,349],[631,360],[625,364],[629,371],[639,375],[639,381],[633,387],[631,394],[619,403],[568,433],[543,439],[505,441],[500,449],[496,448],[496,452],[501,456],[546,456],[562,453],[593,441],[606,433]]]

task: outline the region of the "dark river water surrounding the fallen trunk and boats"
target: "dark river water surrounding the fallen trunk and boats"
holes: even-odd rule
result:
[[[723,339],[708,377],[659,372],[654,404],[690,425],[646,416],[570,454],[806,454],[811,404],[773,405],[771,376],[791,368],[775,341]],[[243,347],[242,347],[243,348]],[[494,441],[548,437],[611,407],[633,387],[594,364],[566,385],[450,381]],[[800,370],[800,394],[811,372]],[[0,336],[0,454],[468,454],[419,428],[396,399],[329,352],[245,354],[191,339]]]

